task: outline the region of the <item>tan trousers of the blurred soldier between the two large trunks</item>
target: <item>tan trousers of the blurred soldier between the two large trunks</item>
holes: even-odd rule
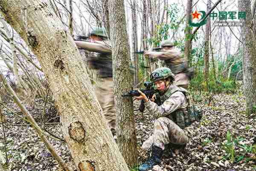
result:
[[[116,107],[113,95],[113,78],[102,78],[96,87],[96,96],[102,107],[108,126],[113,135],[116,133]]]

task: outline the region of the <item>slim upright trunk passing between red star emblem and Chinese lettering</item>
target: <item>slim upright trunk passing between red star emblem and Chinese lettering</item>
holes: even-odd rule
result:
[[[207,0],[207,12],[211,8],[211,1]],[[205,26],[204,36],[204,91],[208,91],[209,81],[209,32],[210,32],[211,20],[207,18],[207,24]]]

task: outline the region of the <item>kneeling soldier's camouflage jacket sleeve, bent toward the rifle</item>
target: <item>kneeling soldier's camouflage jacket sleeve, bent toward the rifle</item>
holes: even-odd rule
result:
[[[145,102],[145,107],[155,118],[166,116],[177,109],[187,107],[185,96],[182,92],[173,93],[161,106],[157,106],[153,101]]]

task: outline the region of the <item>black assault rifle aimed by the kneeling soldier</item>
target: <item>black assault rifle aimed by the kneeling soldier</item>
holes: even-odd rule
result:
[[[144,82],[144,86],[146,87],[145,89],[140,89],[140,91],[142,93],[144,93],[148,99],[151,99],[152,96],[157,93],[157,90],[154,90],[153,88],[153,83],[151,81],[146,81]],[[159,94],[155,94],[156,95],[156,99],[154,101],[154,103],[156,103],[158,106],[161,105],[161,99],[160,99],[160,96]],[[140,92],[138,90],[131,90],[129,91],[128,93],[122,95],[123,97],[137,97],[137,96],[140,96]],[[144,109],[145,109],[145,105],[144,105],[144,101],[141,100],[140,102],[140,112],[144,112]]]

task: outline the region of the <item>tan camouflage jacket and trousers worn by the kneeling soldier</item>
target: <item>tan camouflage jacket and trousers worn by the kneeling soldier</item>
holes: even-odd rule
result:
[[[178,90],[179,88],[175,85],[170,85],[168,88],[170,91],[174,89]],[[186,98],[182,92],[176,91],[161,106],[148,101],[145,102],[145,107],[157,120],[154,122],[154,135],[143,143],[143,149],[149,149],[152,144],[164,149],[164,145],[168,143],[184,145],[189,141],[191,135],[186,131],[188,128],[180,128],[175,123],[177,120],[173,117],[175,111],[187,107]]]

